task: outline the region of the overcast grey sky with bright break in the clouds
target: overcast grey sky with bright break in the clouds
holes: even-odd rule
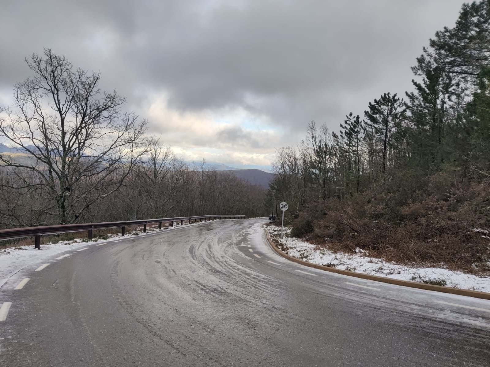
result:
[[[309,121],[337,130],[410,66],[462,0],[18,0],[0,12],[0,104],[43,47],[100,70],[102,88],[186,160],[267,167]]]

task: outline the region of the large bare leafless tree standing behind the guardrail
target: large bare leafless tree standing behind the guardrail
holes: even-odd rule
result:
[[[147,122],[123,113],[116,91],[99,89],[100,72],[74,69],[50,49],[25,61],[34,76],[1,109],[0,137],[29,160],[1,154],[4,173],[15,177],[1,185],[40,195],[45,217],[73,223],[121,187],[145,153]]]

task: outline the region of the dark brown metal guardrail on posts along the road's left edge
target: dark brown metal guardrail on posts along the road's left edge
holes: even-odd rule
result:
[[[194,220],[194,223],[199,220],[206,222],[207,220],[215,219],[239,219],[246,218],[246,215],[196,215],[193,217],[174,217],[174,218],[158,218],[158,219],[145,219],[136,221],[124,221],[124,222],[102,222],[102,223],[80,223],[80,224],[63,224],[58,226],[41,226],[41,227],[26,227],[26,228],[13,228],[13,229],[0,229],[0,240],[8,240],[22,237],[34,236],[34,248],[41,249],[41,235],[42,234],[56,234],[66,232],[78,232],[86,230],[88,231],[88,238],[93,238],[94,229],[104,228],[118,228],[121,227],[121,234],[124,236],[126,233],[126,227],[128,226],[141,226],[143,225],[143,232],[147,231],[147,224],[158,223],[159,229],[162,229],[162,223],[171,223],[173,227],[174,222],[180,221],[180,224],[184,224],[184,221],[189,221],[189,224]]]

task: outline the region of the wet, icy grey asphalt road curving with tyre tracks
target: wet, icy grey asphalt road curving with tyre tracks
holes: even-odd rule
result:
[[[0,289],[0,366],[490,366],[490,301],[303,267],[272,252],[266,221],[25,269]]]

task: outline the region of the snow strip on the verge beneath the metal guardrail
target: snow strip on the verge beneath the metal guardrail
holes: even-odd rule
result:
[[[184,223],[182,226],[180,224],[175,223],[173,228],[179,227],[187,227],[187,226],[195,226],[200,224],[201,222],[186,224]],[[204,222],[202,222],[204,223]],[[162,231],[166,229],[172,229],[172,227],[164,227]],[[117,241],[122,238],[134,237],[137,235],[146,235],[152,232],[159,232],[159,229],[148,228],[147,233],[143,233],[143,229],[131,231],[130,233],[126,233],[124,237],[121,235],[107,235],[107,240],[94,239],[94,241],[88,241],[87,239],[77,238],[73,241],[60,241],[58,243],[47,243],[41,245],[41,250],[34,249],[34,246],[18,246],[15,248],[8,249],[0,249],[0,288],[5,284],[5,282],[11,278],[16,273],[23,270],[25,267],[30,266],[32,264],[42,262],[43,259],[49,258],[53,255],[56,255],[60,252],[65,252],[69,250],[75,250],[81,247],[87,247],[93,245],[95,243],[101,242],[112,242]],[[138,234],[133,234],[137,232]],[[86,234],[86,232],[80,232],[80,235]],[[84,242],[85,241],[85,242]]]

